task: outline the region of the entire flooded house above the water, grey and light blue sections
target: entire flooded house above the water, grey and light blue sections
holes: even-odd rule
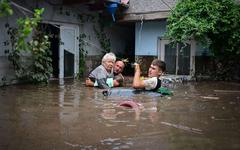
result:
[[[160,58],[167,64],[167,74],[191,78],[197,69],[204,71],[206,66],[202,65],[205,63],[202,57],[209,55],[209,51],[193,39],[176,47],[170,45],[165,32],[167,17],[175,4],[175,0],[11,2],[13,15],[0,18],[1,84],[15,81],[13,67],[8,60],[11,44],[4,44],[10,43],[5,26],[16,27],[17,19],[31,16],[34,8],[45,9],[42,30],[54,35],[50,37],[52,78],[76,77],[81,70],[85,76],[99,65],[101,57],[108,51],[120,59],[142,63],[143,74],[147,73],[153,58]],[[81,59],[84,59],[85,66],[81,66]],[[132,72],[132,68],[127,67],[125,74],[133,75]]]

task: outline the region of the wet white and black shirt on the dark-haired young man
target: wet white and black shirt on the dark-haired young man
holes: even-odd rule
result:
[[[146,90],[157,90],[161,87],[161,80],[158,77],[152,77],[143,80]]]

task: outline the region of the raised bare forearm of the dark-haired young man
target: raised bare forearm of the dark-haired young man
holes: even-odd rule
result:
[[[139,64],[135,64],[135,73],[133,77],[132,87],[135,89],[143,89],[145,88],[143,80],[141,80],[141,69]]]

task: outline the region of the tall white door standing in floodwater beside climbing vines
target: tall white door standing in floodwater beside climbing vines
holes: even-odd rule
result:
[[[40,27],[51,43],[52,78],[74,78],[79,70],[78,26],[42,23]]]

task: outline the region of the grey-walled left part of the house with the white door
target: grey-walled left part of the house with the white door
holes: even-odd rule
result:
[[[81,52],[87,55],[85,73],[99,65],[107,51],[119,57],[130,54],[126,48],[131,47],[129,43],[134,40],[133,28],[116,24],[114,15],[107,10],[109,3],[86,0],[11,1],[13,15],[0,17],[1,85],[16,82],[13,66],[8,59],[12,47],[6,26],[17,27],[17,19],[32,17],[35,8],[44,8],[41,27],[51,35],[52,78],[76,77],[81,67]],[[124,10],[127,5],[120,7]],[[25,56],[28,55],[23,54]]]

